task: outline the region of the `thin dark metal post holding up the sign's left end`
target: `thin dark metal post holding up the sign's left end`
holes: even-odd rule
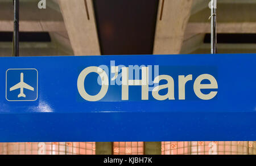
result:
[[[14,32],[13,32],[13,57],[19,56],[19,0],[13,0],[14,5]]]

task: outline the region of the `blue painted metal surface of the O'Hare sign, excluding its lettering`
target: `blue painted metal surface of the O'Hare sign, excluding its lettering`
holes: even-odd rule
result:
[[[159,65],[159,75],[174,79],[175,100],[156,100],[151,91],[148,100],[141,100],[141,86],[129,86],[129,100],[122,100],[122,86],[115,84],[101,100],[86,101],[77,90],[79,74],[86,67],[106,65],[110,84],[110,61],[126,67]],[[19,72],[9,78],[9,69]],[[19,83],[23,69],[38,71],[38,98],[8,101],[9,95],[20,93],[9,90]],[[0,142],[256,141],[255,71],[256,54],[2,57]],[[23,74],[24,82],[35,87],[34,76]],[[179,100],[178,76],[189,74],[193,80],[185,85],[185,100]],[[217,91],[210,100],[199,99],[193,90],[201,74],[217,80],[217,89],[201,90]],[[95,73],[85,78],[90,95],[101,89],[97,78]],[[35,95],[24,89],[28,99],[30,92]]]

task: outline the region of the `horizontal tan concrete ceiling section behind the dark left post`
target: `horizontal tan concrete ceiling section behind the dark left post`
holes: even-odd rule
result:
[[[66,31],[56,3],[47,1],[46,9],[39,9],[37,4],[37,1],[20,2],[20,31]],[[13,31],[13,1],[1,1],[0,6],[0,31]]]

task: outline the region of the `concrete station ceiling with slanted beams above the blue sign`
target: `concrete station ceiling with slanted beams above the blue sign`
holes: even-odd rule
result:
[[[210,53],[207,0],[47,0],[46,9],[38,2],[20,0],[20,31],[38,36],[20,41],[22,56]],[[256,52],[255,8],[254,0],[218,1],[218,53]],[[13,3],[2,0],[1,56],[11,55],[12,31]]]

